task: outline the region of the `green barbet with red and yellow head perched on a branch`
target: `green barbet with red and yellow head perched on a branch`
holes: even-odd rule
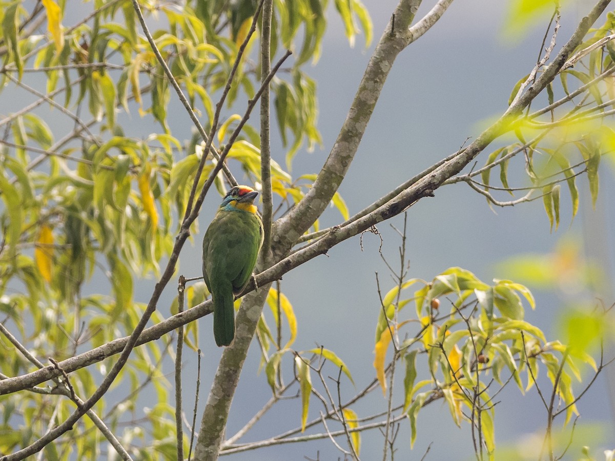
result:
[[[235,337],[234,296],[252,277],[263,245],[263,221],[254,200],[258,192],[234,186],[203,238],[203,278],[213,299],[213,337],[218,347]]]

